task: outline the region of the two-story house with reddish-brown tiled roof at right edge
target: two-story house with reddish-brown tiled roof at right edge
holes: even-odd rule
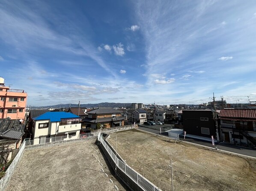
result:
[[[256,146],[256,109],[222,109],[219,118],[222,141]]]

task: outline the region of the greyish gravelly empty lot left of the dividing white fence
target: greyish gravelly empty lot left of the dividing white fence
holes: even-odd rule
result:
[[[6,191],[116,191],[114,185],[128,190],[111,174],[94,142],[25,150]]]

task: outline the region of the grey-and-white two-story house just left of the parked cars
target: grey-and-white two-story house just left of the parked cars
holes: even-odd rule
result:
[[[136,109],[127,111],[127,120],[129,122],[143,123],[147,121],[147,112],[145,110]]]

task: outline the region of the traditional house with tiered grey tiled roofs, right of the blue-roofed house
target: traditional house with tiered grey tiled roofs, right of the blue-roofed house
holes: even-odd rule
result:
[[[101,127],[117,127],[124,125],[125,118],[122,117],[122,111],[113,109],[112,107],[99,107],[86,112],[87,118],[84,118],[83,124],[87,128],[96,129],[97,124]]]

